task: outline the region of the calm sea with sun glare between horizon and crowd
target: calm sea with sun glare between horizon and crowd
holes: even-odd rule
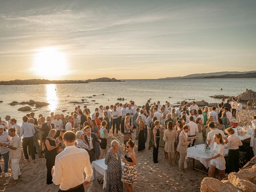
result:
[[[223,90],[220,90],[220,89]],[[195,99],[206,102],[220,102],[220,99],[210,98],[212,95],[237,96],[248,89],[256,90],[255,78],[244,79],[172,79],[172,80],[125,80],[125,82],[91,82],[88,84],[47,84],[47,85],[20,85],[0,86],[0,117],[6,115],[17,118],[21,124],[22,116],[26,112],[19,112],[18,108],[26,105],[10,106],[10,102],[40,101],[48,102],[49,106],[36,108],[38,114],[44,116],[50,112],[62,113],[74,111],[76,105],[71,101],[85,100],[91,112],[99,105],[110,105],[117,98],[123,97],[129,102],[134,100],[137,105],[144,105],[148,99],[152,102],[165,101],[176,104],[182,100]],[[104,94],[104,95],[102,95]],[[92,98],[88,98],[89,96]],[[83,98],[84,97],[84,98]],[[171,97],[171,98],[169,98]],[[95,100],[95,102],[92,102]],[[123,103],[124,103],[123,102]],[[80,104],[82,107],[84,104]],[[32,107],[33,110],[35,107]],[[64,112],[64,115],[68,113]]]

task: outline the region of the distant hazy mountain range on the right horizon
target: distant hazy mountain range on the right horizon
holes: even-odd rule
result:
[[[212,73],[198,73],[179,77],[166,77],[160,79],[202,79],[202,78],[256,78],[256,71],[224,71]]]

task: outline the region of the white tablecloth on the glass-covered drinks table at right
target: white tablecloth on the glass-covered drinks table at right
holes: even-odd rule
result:
[[[210,167],[210,161],[205,162],[204,160],[206,160],[207,158],[210,158],[210,153],[206,154],[204,151],[204,148],[205,148],[204,144],[189,147],[187,150],[187,157],[191,157],[196,160],[199,160],[207,169],[208,167]],[[225,156],[227,155],[228,155],[228,149],[225,149]]]

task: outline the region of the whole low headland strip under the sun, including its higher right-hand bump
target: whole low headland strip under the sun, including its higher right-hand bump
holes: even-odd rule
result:
[[[28,80],[10,80],[0,81],[0,85],[39,85],[39,84],[77,84],[77,83],[89,83],[89,82],[121,82],[115,78],[98,78],[88,80],[47,80],[47,79],[28,79]]]

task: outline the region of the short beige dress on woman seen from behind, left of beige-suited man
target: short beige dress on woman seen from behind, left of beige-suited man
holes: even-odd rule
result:
[[[178,133],[175,129],[173,130],[164,130],[164,151],[167,153],[174,153],[176,150],[175,142],[176,138],[178,136]]]

